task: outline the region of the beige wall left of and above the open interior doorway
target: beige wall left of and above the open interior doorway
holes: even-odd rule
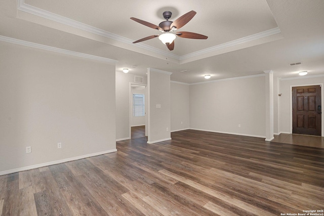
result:
[[[140,75],[137,75],[140,76]],[[144,84],[147,83],[147,76]],[[130,139],[130,82],[135,74],[116,72],[116,140]]]

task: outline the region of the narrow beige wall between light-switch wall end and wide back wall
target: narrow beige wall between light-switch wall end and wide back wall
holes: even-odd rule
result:
[[[171,81],[171,131],[189,128],[189,84]]]

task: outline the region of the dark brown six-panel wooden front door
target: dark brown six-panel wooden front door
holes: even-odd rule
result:
[[[320,85],[293,87],[293,134],[321,136]]]

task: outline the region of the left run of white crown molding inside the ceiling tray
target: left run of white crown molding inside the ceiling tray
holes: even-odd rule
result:
[[[67,17],[63,17],[63,16],[60,16],[58,14],[54,14],[52,12],[49,12],[49,11],[46,11],[46,10],[43,10],[43,9],[40,9],[40,8],[36,8],[36,7],[31,6],[31,5],[27,5],[27,4],[25,4],[25,0],[18,0],[17,9],[20,10],[20,11],[23,11],[23,12],[38,16],[38,17],[43,17],[45,19],[49,19],[49,20],[52,20],[52,21],[55,21],[55,22],[62,23],[64,25],[71,26],[73,28],[78,28],[78,29],[81,29],[81,30],[84,30],[84,31],[87,31],[87,32],[90,32],[90,33],[93,33],[93,34],[97,34],[97,35],[107,37],[109,39],[113,39],[113,40],[117,40],[119,42],[123,42],[125,44],[131,45],[131,46],[134,46],[134,47],[142,48],[142,49],[145,49],[145,50],[150,51],[150,52],[154,52],[154,53],[157,53],[157,54],[160,54],[160,55],[168,56],[168,57],[174,58],[174,59],[176,59],[178,61],[179,61],[179,58],[180,58],[178,55],[175,55],[173,53],[169,53],[169,52],[166,52],[166,51],[163,51],[163,50],[159,50],[159,49],[156,49],[154,47],[151,47],[151,46],[148,46],[148,45],[145,45],[145,44],[142,44],[142,43],[141,44],[133,44],[134,40],[131,40],[131,39],[127,38],[127,37],[123,37],[123,36],[120,36],[120,35],[117,35],[117,34],[102,30],[100,28],[96,28],[96,27],[93,27],[91,25],[87,25],[85,23],[69,19]]]

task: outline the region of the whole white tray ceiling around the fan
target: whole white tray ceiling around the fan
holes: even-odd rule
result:
[[[18,0],[0,2],[0,35],[40,45],[117,60],[116,70],[145,74],[146,68],[170,71],[186,83],[263,74],[281,78],[324,74],[323,0]],[[160,32],[130,17],[158,25],[164,11],[174,21],[197,14],[179,31],[209,36],[178,37],[174,51]],[[290,63],[302,62],[290,66]]]

